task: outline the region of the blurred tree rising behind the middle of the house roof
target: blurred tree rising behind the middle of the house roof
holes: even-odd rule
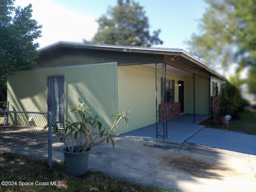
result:
[[[112,44],[150,47],[162,44],[158,38],[160,30],[150,36],[148,17],[143,7],[134,1],[118,0],[118,5],[108,10],[108,16],[99,18],[99,28],[93,44]]]

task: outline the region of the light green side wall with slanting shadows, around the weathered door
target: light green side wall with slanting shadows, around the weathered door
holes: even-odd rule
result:
[[[65,120],[79,120],[70,116],[69,106],[85,103],[93,115],[98,115],[103,128],[109,130],[118,110],[117,63],[41,68],[15,72],[8,77],[10,110],[47,112],[48,76],[64,76]],[[113,134],[118,134],[117,131]]]

